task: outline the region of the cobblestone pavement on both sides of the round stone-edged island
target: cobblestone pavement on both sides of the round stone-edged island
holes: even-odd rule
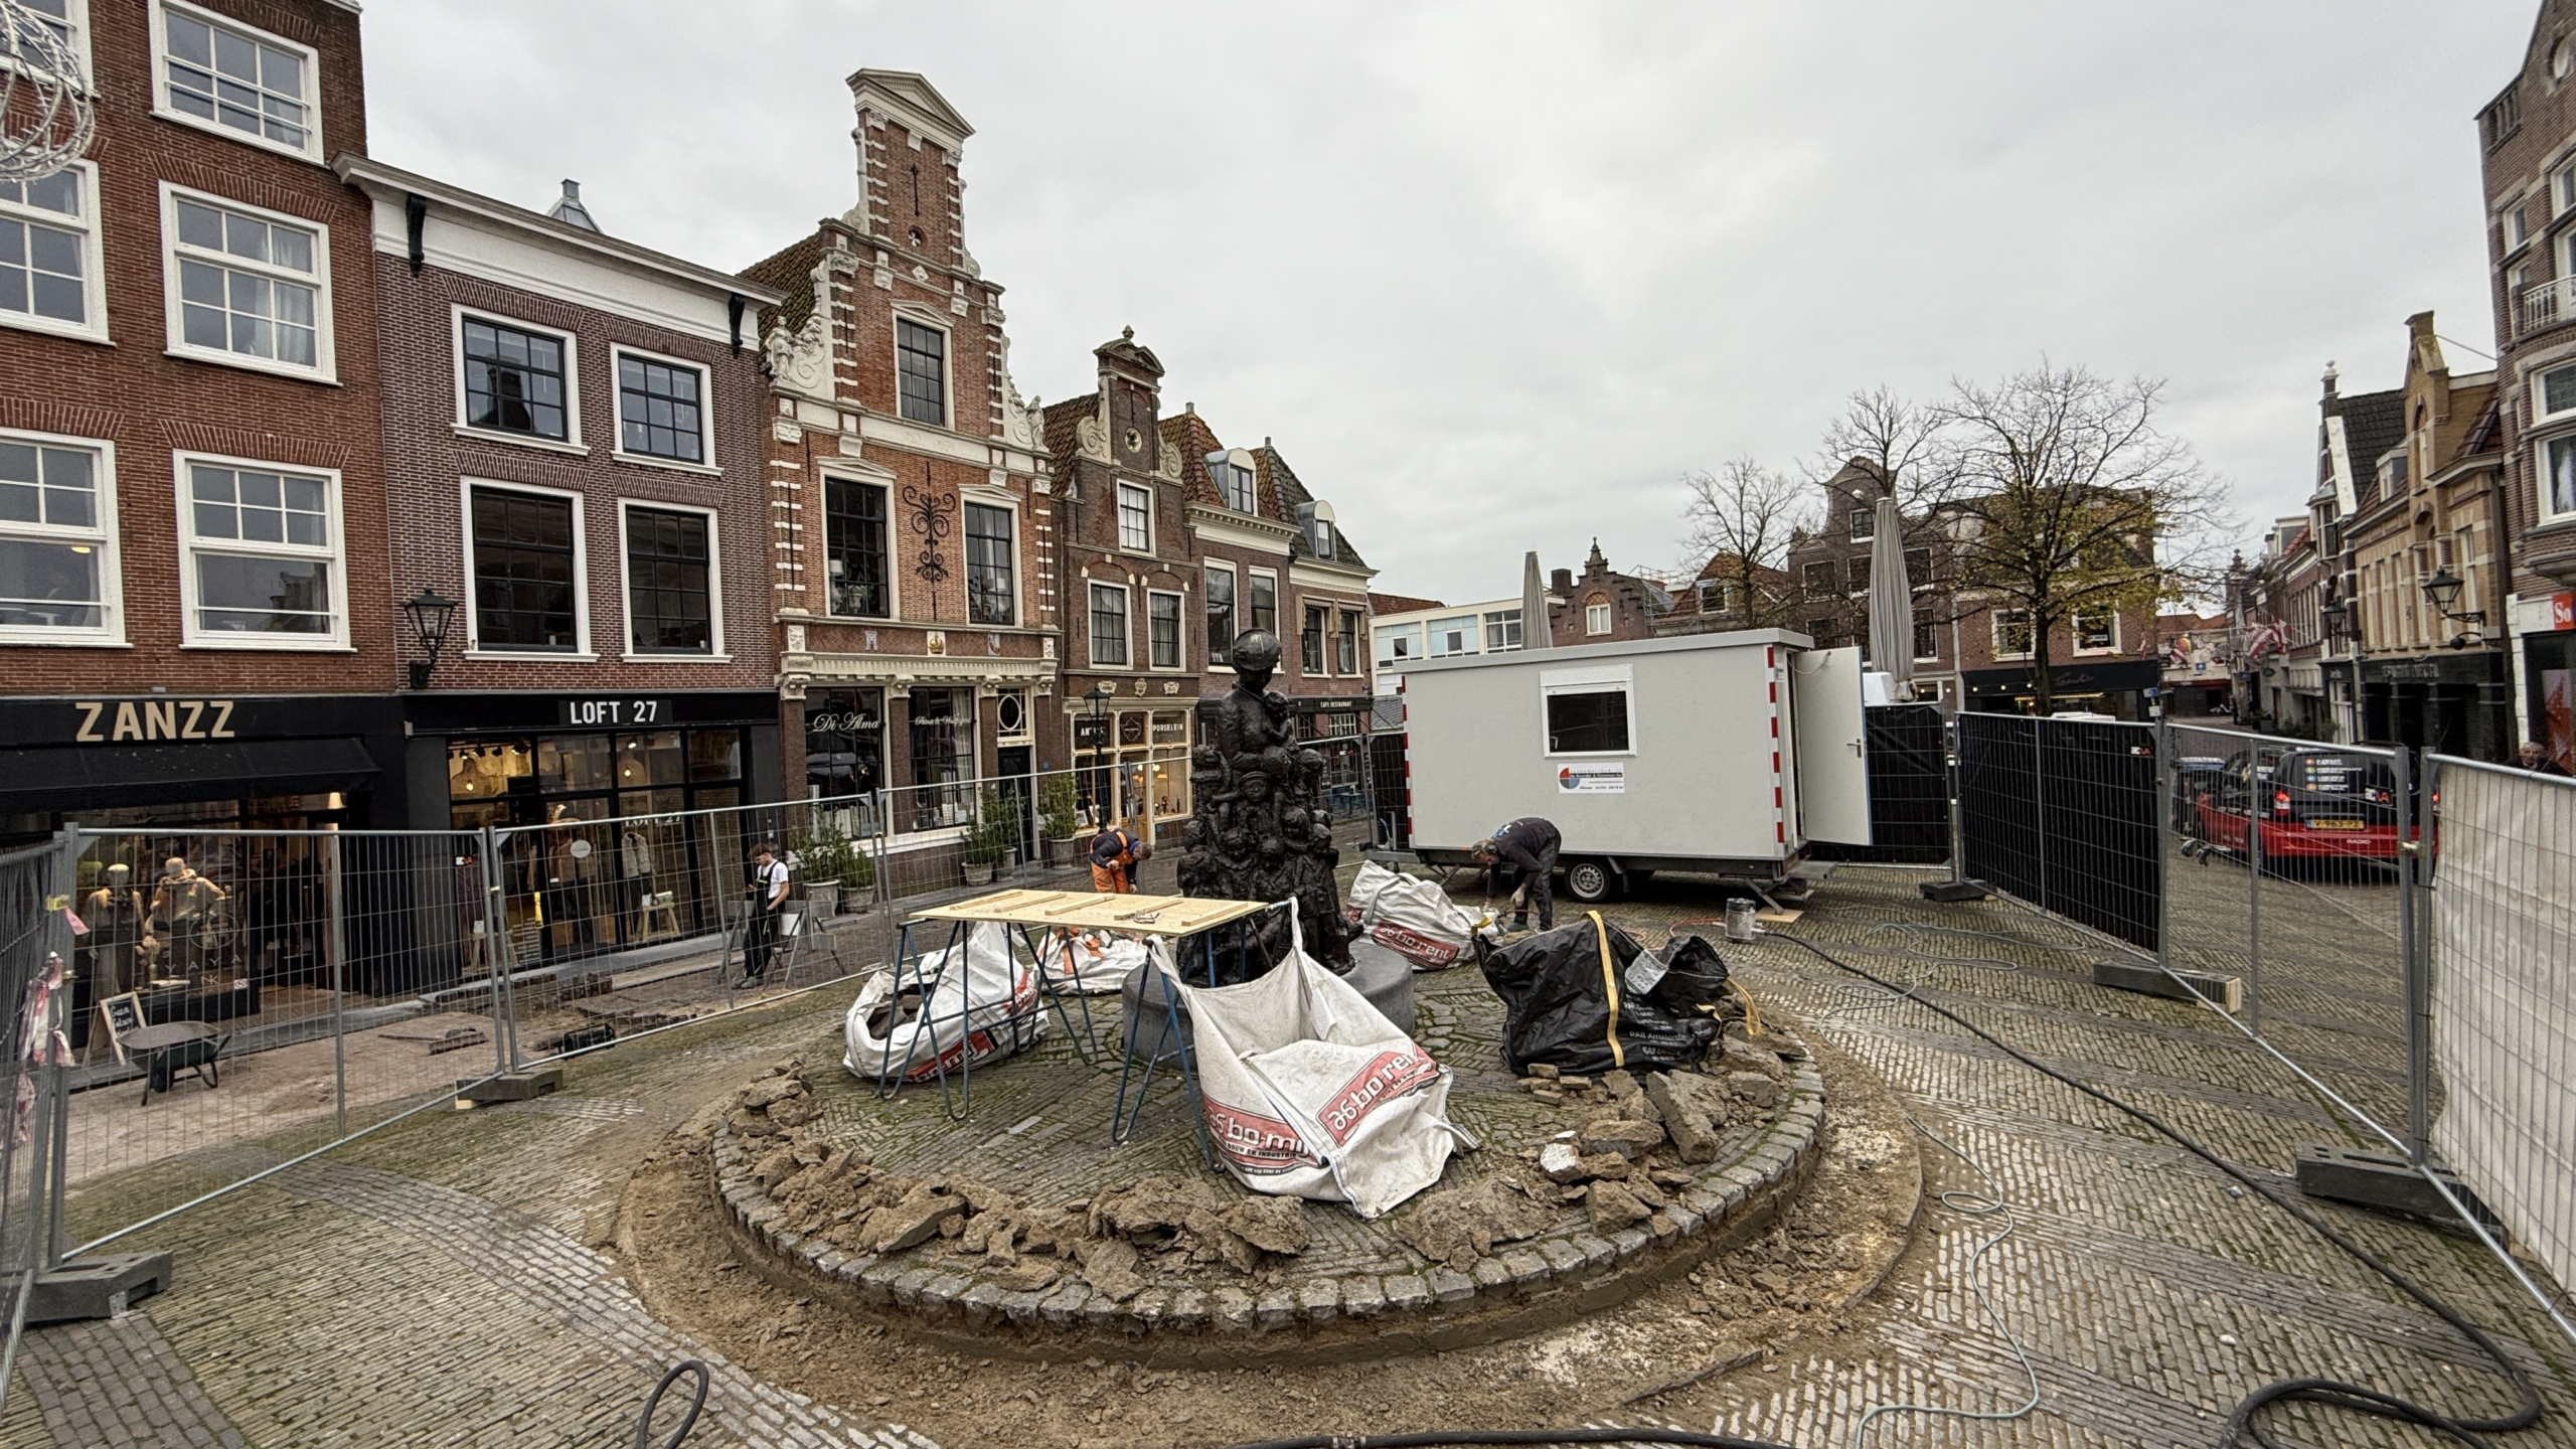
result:
[[[2200,879],[2202,866],[2182,869]],[[2213,864],[2210,890],[2231,869],[2244,882],[2241,866]],[[2087,980],[2097,951],[2076,933],[2009,902],[1927,905],[1917,879],[1847,866],[1783,931],[1919,982],[1924,998],[2280,1181],[2298,1142],[2352,1140],[2313,1093],[2202,1008],[2097,990]],[[2280,941],[2329,944],[2313,951],[2318,972],[2336,962],[2331,941],[2360,949],[2375,931],[2372,887],[2262,890]],[[1716,905],[1690,882],[1659,879],[1615,918],[1659,931]],[[2210,920],[2223,926],[2223,913]],[[2110,1109],[1914,1003],[1855,987],[1795,946],[1762,941],[1726,954],[1765,1008],[1803,1016],[1880,1073],[1927,1129],[1991,1176],[2017,1220],[1984,1274],[2030,1346],[2038,1413],[2017,1423],[1880,1418],[1873,1446],[2200,1446],[2249,1387],[2308,1372],[2463,1410],[2501,1403],[2447,1328]],[[2295,980],[2287,964],[2269,969],[2277,982]],[[2342,1047],[2360,1083],[2385,1070],[2370,1052],[2393,1018],[2362,1000],[2378,995],[2362,980],[2378,967],[2352,969],[2352,980],[2316,977],[2308,998],[2293,1000],[2285,985],[2272,1006],[2336,1021],[2316,1029],[2318,1052]],[[613,1253],[618,1194],[636,1160],[762,1062],[811,1047],[842,1006],[835,987],[582,1057],[562,1096],[422,1114],[149,1232],[152,1245],[178,1250],[178,1287],[116,1323],[33,1330],[0,1446],[618,1444],[659,1369],[683,1354],[719,1366],[716,1415],[693,1449],[907,1441],[863,1413],[750,1382],[654,1323],[621,1284]],[[93,1178],[75,1194],[75,1240],[191,1181],[222,1181],[314,1142],[289,1132]],[[1927,1163],[1942,1160],[1927,1152]],[[1937,1186],[1981,1183],[1945,1160]],[[2568,1346],[2476,1243],[2324,1212],[2488,1325],[2543,1382],[2550,1421],[2499,1446],[2576,1441]],[[1659,1413],[1842,1449],[1873,1403],[2014,1408],[2027,1392],[2020,1364],[1968,1292],[1971,1256],[1994,1227],[1991,1217],[1927,1204],[1922,1240],[1875,1312],[1814,1351],[1672,1395]],[[1602,1418],[1620,1413],[1633,1410],[1602,1408]],[[2293,1434],[2308,1444],[2429,1444],[2347,1415]]]

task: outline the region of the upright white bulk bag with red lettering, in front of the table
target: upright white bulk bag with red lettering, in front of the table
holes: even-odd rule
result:
[[[1247,1189],[1378,1217],[1476,1140],[1448,1119],[1450,1070],[1306,954],[1244,985],[1182,985],[1200,1109]]]

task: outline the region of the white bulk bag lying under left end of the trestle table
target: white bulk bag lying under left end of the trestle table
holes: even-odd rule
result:
[[[963,962],[951,957],[963,954]],[[899,1078],[925,1083],[966,1065],[1036,1047],[1046,1036],[1038,975],[1010,957],[1010,931],[999,923],[966,928],[966,946],[927,951],[914,967],[878,972],[858,990],[842,1021],[840,1065],[860,1080]],[[894,1006],[896,987],[933,982],[930,1003],[909,1021]],[[886,1021],[871,1029],[871,1018]]]

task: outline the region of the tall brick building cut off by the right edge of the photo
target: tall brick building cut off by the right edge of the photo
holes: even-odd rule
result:
[[[2506,521],[2488,632],[2506,634],[2519,735],[2576,768],[2576,0],[2540,5],[2478,139]]]

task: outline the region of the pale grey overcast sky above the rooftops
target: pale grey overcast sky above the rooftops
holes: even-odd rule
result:
[[[2043,353],[2169,379],[2246,534],[2324,364],[2486,366],[2476,113],[2535,0],[969,5],[371,0],[371,150],[739,268],[845,211],[858,67],[976,126],[1023,394],[1133,325],[1378,588],[1680,565],[1677,477],[1852,389]],[[2476,351],[2468,351],[2476,348]]]

